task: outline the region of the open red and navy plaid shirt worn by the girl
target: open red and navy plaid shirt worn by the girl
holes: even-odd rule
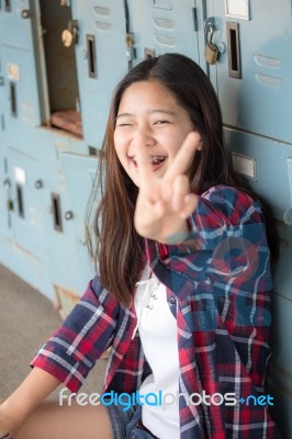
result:
[[[180,438],[272,439],[268,407],[244,399],[263,394],[270,357],[269,249],[258,202],[233,188],[200,196],[180,245],[146,240],[146,256],[166,285],[176,315],[181,393],[236,394],[233,406],[188,405],[179,398]],[[112,347],[104,391],[134,393],[150,373],[134,305],[126,308],[96,277],[33,365],[79,390],[98,358]]]

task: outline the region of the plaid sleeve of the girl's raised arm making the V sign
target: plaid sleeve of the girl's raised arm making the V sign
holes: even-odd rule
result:
[[[271,289],[266,227],[258,202],[234,188],[215,187],[200,196],[188,224],[190,232],[179,245],[146,240],[149,264],[162,282],[171,272],[167,286],[179,291],[180,299],[189,295],[189,281],[198,283],[206,274],[221,274],[224,282],[235,277],[235,282],[254,281],[250,274],[259,264],[259,251],[268,264],[265,286]]]

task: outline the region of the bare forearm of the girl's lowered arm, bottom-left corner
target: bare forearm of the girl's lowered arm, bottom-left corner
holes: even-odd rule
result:
[[[55,376],[34,368],[15,392],[0,405],[0,432],[18,430],[59,384]]]

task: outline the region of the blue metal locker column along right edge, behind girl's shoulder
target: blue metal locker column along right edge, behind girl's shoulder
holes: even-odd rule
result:
[[[207,0],[207,22],[220,49],[209,75],[221,102],[234,167],[269,202],[277,221],[280,260],[274,267],[269,385],[277,407],[284,407],[276,409],[274,417],[284,437],[292,438],[291,1]]]

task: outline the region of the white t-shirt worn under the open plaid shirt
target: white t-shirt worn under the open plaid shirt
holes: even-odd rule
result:
[[[160,439],[180,437],[179,406],[173,397],[179,393],[179,356],[177,322],[167,303],[166,286],[145,268],[142,280],[135,292],[135,309],[137,329],[145,357],[153,374],[142,383],[139,393],[155,393],[158,397],[162,392],[169,405],[150,405],[155,397],[150,395],[142,407],[142,421]],[[171,402],[171,404],[170,404]]]

